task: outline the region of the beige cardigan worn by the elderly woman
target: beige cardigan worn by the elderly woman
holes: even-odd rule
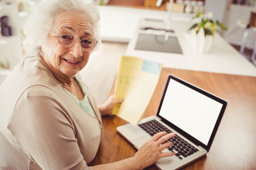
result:
[[[68,95],[40,57],[26,56],[0,86],[0,169],[91,170],[101,138],[96,118]]]

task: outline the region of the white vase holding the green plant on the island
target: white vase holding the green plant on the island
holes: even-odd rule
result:
[[[191,44],[193,51],[197,53],[208,53],[213,43],[213,35],[204,35],[204,29],[200,28],[198,33],[196,30],[191,30]]]

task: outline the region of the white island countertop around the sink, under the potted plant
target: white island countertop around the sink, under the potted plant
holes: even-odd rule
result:
[[[190,21],[184,20],[173,20],[171,22],[171,29],[175,31],[183,54],[135,50],[138,34],[141,32],[139,30],[141,26],[163,27],[161,23],[155,24],[155,22],[148,22],[144,18],[141,18],[141,22],[137,25],[137,29],[128,44],[126,55],[161,62],[167,68],[256,76],[256,66],[236,51],[219,34],[215,35],[209,53],[200,54],[194,52],[186,38],[187,36],[185,36],[191,25],[192,23]]]

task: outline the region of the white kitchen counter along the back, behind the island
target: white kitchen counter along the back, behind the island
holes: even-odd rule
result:
[[[101,22],[101,39],[104,41],[129,42],[134,36],[140,18],[166,20],[167,11],[138,9],[122,6],[98,6]],[[173,20],[189,21],[195,14],[173,13]]]

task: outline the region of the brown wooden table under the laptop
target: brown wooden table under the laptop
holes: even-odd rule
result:
[[[163,68],[144,117],[155,115],[168,73],[227,100],[227,108],[207,156],[182,170],[256,169],[256,77]],[[114,85],[110,94],[114,93]],[[136,150],[116,130],[127,124],[111,115],[103,117],[99,151],[91,165],[132,157]],[[146,170],[156,170],[152,165]]]

